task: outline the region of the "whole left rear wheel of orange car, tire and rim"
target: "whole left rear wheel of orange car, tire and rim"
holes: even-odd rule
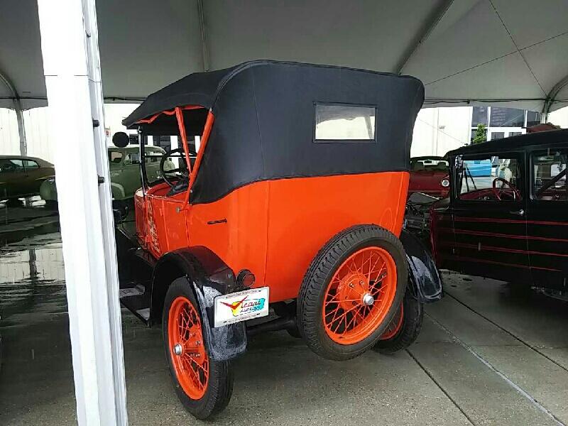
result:
[[[168,288],[162,324],[178,398],[198,419],[219,413],[231,399],[233,375],[228,361],[213,361],[207,355],[199,306],[186,278],[174,280]]]

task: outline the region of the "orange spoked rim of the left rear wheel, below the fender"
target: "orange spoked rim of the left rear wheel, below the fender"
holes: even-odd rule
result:
[[[177,297],[168,314],[168,344],[175,377],[193,400],[203,397],[209,380],[200,315],[187,297]]]

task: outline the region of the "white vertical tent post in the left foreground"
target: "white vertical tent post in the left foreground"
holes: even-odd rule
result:
[[[94,0],[38,0],[38,11],[50,140],[56,143],[77,420],[127,425]]]

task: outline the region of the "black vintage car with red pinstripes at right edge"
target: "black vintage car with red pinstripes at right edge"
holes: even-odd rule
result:
[[[450,196],[430,217],[437,266],[568,300],[567,156],[568,130],[450,151]]]

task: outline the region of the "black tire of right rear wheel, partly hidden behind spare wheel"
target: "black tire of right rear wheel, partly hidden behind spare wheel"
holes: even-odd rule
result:
[[[393,321],[396,319],[395,317]],[[381,354],[394,354],[408,348],[420,334],[423,319],[424,307],[422,303],[418,302],[410,291],[407,291],[403,300],[403,323],[400,325],[400,329],[390,339],[380,339],[373,349]]]

